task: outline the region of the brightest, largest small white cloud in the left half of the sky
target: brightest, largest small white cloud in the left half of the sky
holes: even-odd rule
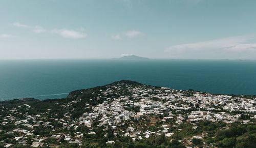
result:
[[[84,31],[75,31],[71,29],[54,29],[52,32],[63,38],[81,39],[87,37],[87,34],[84,33]]]

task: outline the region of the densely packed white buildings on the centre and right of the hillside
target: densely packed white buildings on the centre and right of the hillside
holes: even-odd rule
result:
[[[126,92],[122,93],[124,88]],[[239,109],[249,113],[255,110],[256,103],[255,98],[211,95],[194,91],[173,90],[167,87],[134,86],[125,83],[106,86],[105,91],[100,90],[100,92],[97,100],[103,99],[105,101],[93,107],[91,113],[85,113],[86,116],[81,117],[80,120],[91,127],[91,123],[96,119],[99,121],[98,126],[103,126],[104,129],[121,130],[123,136],[130,136],[133,139],[161,134],[168,137],[173,135],[170,132],[172,130],[169,129],[183,123],[194,124],[200,121],[210,121],[230,124],[239,121],[241,114],[232,112],[233,108],[228,109],[227,106],[240,106]],[[115,97],[116,95],[119,97]],[[138,127],[136,123],[131,122],[131,120],[143,122],[152,116],[161,122],[164,129],[160,128],[161,130],[152,132],[146,128],[148,125]],[[126,130],[123,129],[125,123],[129,123]]]

